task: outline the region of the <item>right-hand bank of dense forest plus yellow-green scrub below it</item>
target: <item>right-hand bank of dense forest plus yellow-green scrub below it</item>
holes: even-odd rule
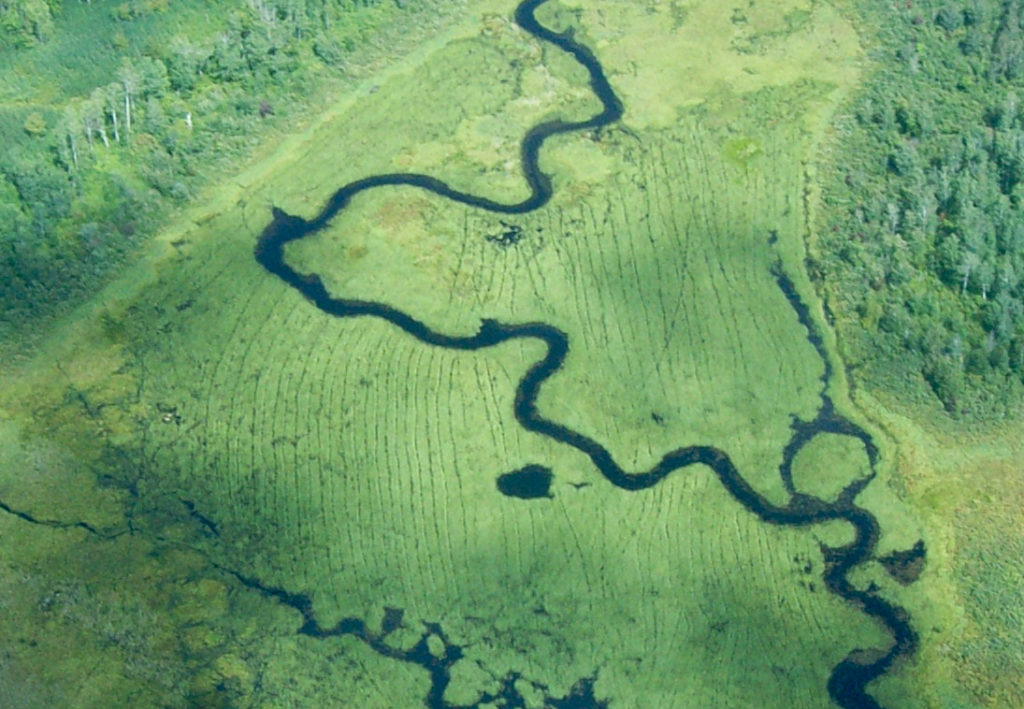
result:
[[[931,581],[900,597],[956,628],[926,633],[903,681],[949,667],[966,693],[941,692],[945,702],[1017,706],[1021,7],[847,6],[872,70],[819,163],[808,269],[854,399],[895,453],[891,485],[927,530]]]

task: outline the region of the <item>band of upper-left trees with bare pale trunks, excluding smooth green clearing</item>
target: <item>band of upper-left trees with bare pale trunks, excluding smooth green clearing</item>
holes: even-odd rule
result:
[[[168,6],[128,0],[88,10],[131,29]],[[0,0],[6,51],[75,32],[61,29],[58,8]],[[32,111],[17,139],[0,136],[0,324],[94,290],[212,166],[250,148],[267,121],[300,111],[324,65],[344,71],[387,16],[375,12],[382,8],[400,11],[392,0],[220,3],[213,32],[125,53],[108,83]]]

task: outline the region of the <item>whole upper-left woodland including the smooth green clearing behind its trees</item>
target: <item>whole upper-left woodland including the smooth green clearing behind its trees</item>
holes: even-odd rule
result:
[[[377,29],[428,5],[0,2],[0,335],[95,292]]]

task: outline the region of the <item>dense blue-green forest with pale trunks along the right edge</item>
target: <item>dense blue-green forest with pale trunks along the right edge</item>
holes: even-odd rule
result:
[[[1024,3],[899,2],[868,16],[885,28],[881,68],[839,126],[812,275],[868,379],[927,383],[956,416],[1017,414]]]

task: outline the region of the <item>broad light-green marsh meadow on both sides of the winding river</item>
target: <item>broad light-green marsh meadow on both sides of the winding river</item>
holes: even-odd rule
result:
[[[27,668],[11,676],[28,679],[9,686],[74,706],[423,703],[422,668],[350,635],[298,634],[298,614],[260,587],[305,594],[324,627],[360,619],[393,649],[426,638],[441,655],[424,625],[438,624],[464,654],[453,705],[518,673],[527,706],[592,677],[610,706],[817,707],[837,663],[887,648],[821,582],[819,545],[848,543],[848,526],[766,525],[698,466],[615,490],[513,417],[540,342],[429,347],[379,320],[328,318],[253,260],[270,205],[312,215],[368,174],[420,171],[522,199],[523,132],[598,105],[577,64],[511,22],[515,3],[468,6],[9,370],[0,499],[35,523],[5,515],[5,538],[36,546],[4,546],[22,574],[8,578],[28,579],[6,622],[12,638],[53,631],[11,640]],[[449,332],[483,317],[553,323],[571,350],[542,390],[547,416],[632,469],[716,445],[784,500],[782,449],[793,418],[813,416],[825,367],[773,268],[825,332],[802,267],[806,166],[858,79],[850,22],[798,1],[587,0],[540,18],[594,48],[627,107],[620,126],[546,144],[544,209],[498,218],[378,190],[288,258],[332,292]],[[827,336],[826,347],[835,358]],[[833,369],[825,385],[849,409]],[[847,439],[797,459],[800,489],[827,498],[863,474]],[[554,471],[550,500],[498,492],[498,475],[534,463]],[[909,548],[912,515],[885,485],[869,495],[879,552]],[[56,519],[92,531],[41,524]],[[902,592],[877,564],[856,583]],[[58,650],[72,631],[74,649]],[[885,680],[886,704],[935,701],[900,683],[905,669]]]

